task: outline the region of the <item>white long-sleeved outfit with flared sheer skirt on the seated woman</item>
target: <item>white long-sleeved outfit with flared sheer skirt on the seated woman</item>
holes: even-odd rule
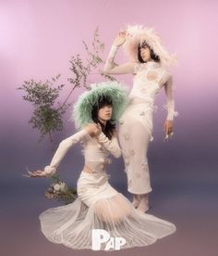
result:
[[[111,153],[115,158],[121,155],[115,136],[109,140],[102,133],[93,138],[81,130],[60,143],[45,171],[55,173],[69,147],[78,142],[84,147],[85,163],[91,173],[81,172],[78,198],[73,203],[48,209],[40,215],[42,233],[47,239],[75,250],[92,249],[91,230],[103,229],[111,237],[125,238],[126,244],[121,249],[127,249],[150,245],[176,231],[174,224],[133,208],[108,183],[105,173],[110,162],[108,155]]]

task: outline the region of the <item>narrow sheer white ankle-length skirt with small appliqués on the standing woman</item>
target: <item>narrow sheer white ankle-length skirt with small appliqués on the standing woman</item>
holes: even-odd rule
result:
[[[149,103],[129,105],[119,120],[118,137],[127,173],[127,190],[133,194],[151,192],[147,159],[152,140],[152,111]]]

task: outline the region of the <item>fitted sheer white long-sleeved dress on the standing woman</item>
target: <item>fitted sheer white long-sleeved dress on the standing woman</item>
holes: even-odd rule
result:
[[[150,171],[147,159],[149,142],[152,140],[152,112],[155,96],[164,87],[167,99],[167,120],[176,116],[172,77],[158,62],[128,62],[114,65],[118,47],[113,45],[105,63],[105,74],[134,75],[129,103],[119,120],[118,138],[122,148],[127,173],[127,190],[133,194],[151,192]]]

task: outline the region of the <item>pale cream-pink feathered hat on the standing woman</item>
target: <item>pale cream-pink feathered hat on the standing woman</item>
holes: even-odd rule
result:
[[[176,63],[176,55],[170,55],[163,47],[161,38],[153,31],[142,25],[128,25],[125,29],[127,39],[123,47],[127,55],[133,61],[138,60],[138,46],[146,42],[151,47],[154,54],[159,56],[163,66],[170,66]]]

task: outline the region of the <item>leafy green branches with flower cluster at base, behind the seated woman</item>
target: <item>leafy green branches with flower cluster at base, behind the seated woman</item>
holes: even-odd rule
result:
[[[109,80],[115,80],[113,76],[104,75],[101,69],[103,65],[103,50],[104,44],[100,40],[99,29],[93,33],[91,46],[88,46],[82,41],[85,50],[86,59],[81,58],[80,54],[72,56],[69,60],[70,77],[67,81],[72,85],[72,88],[67,94],[63,102],[59,100],[61,91],[66,84],[56,85],[60,78],[60,74],[52,78],[52,81],[37,82],[33,79],[25,81],[18,90],[24,91],[25,95],[22,98],[28,101],[33,106],[32,116],[30,117],[30,125],[33,129],[37,129],[40,133],[40,140],[45,135],[49,136],[49,140],[54,151],[53,134],[63,130],[63,116],[72,103],[67,103],[74,90],[83,87],[90,90],[88,78],[92,74],[100,75]],[[76,190],[61,181],[59,175],[52,177],[52,184],[45,192],[46,198],[60,198],[66,203],[75,198]]]

